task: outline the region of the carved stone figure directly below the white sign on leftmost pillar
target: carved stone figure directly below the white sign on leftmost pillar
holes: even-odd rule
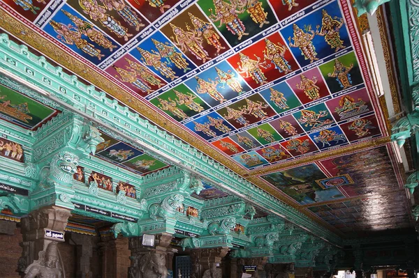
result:
[[[57,242],[51,242],[45,251],[39,252],[39,259],[24,271],[24,278],[61,278],[65,277],[59,263]]]

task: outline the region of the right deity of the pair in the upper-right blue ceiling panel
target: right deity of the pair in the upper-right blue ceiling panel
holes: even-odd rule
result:
[[[332,19],[326,10],[323,10],[323,20],[321,21],[322,26],[319,31],[316,31],[316,34],[319,36],[325,37],[326,43],[330,45],[330,47],[335,48],[335,52],[339,49],[344,49],[344,41],[340,39],[339,29],[344,26],[344,19],[339,17],[335,17]],[[317,26],[317,29],[320,26]]]

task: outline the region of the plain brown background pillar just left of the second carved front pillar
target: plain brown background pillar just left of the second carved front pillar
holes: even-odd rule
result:
[[[128,249],[128,238],[119,235],[102,235],[101,242],[98,242],[102,278],[126,278],[128,277],[128,267],[130,250]]]

